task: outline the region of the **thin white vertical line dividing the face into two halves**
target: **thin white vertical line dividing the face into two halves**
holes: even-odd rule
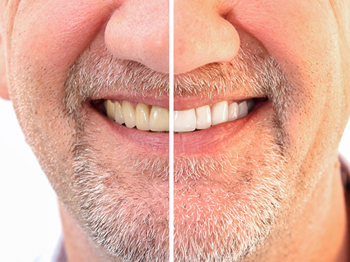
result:
[[[174,0],[169,0],[169,262],[174,262]]]

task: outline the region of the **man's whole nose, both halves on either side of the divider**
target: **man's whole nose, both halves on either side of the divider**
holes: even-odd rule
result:
[[[135,60],[154,71],[168,73],[168,1],[125,1],[106,25],[105,42],[117,58]],[[211,62],[231,61],[239,47],[237,30],[209,0],[175,1],[174,73],[185,73]]]

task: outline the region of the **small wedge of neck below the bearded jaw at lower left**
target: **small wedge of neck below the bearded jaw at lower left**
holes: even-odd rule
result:
[[[95,246],[65,207],[60,202],[58,205],[65,239],[65,252],[69,262],[121,262],[119,259],[110,258],[102,248]]]

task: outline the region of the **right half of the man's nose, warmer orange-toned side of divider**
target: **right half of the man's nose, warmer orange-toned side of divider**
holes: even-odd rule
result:
[[[174,1],[174,73],[211,62],[229,62],[240,48],[235,27],[212,0]]]

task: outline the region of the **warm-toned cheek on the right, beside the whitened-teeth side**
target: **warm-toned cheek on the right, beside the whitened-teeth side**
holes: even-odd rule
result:
[[[288,77],[286,129],[298,152],[293,158],[301,163],[334,154],[344,86],[338,27],[328,1],[239,1],[227,17],[255,36]]]

